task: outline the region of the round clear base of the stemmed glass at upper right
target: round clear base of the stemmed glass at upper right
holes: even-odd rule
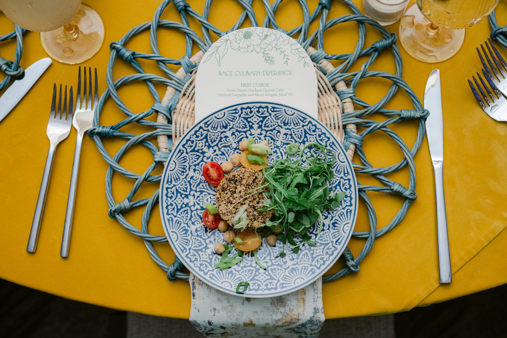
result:
[[[465,30],[432,24],[414,4],[400,20],[399,37],[410,55],[424,62],[435,63],[447,60],[459,51],[465,39]]]

